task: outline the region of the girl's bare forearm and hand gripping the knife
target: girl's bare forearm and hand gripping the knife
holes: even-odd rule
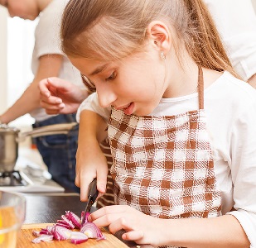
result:
[[[99,193],[106,191],[108,165],[99,146],[99,142],[107,136],[106,126],[104,119],[96,112],[80,112],[75,184],[80,187],[81,201],[87,200],[88,186],[94,178],[97,178]]]

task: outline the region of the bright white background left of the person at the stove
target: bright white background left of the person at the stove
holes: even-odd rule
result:
[[[10,18],[0,7],[0,114],[11,107],[33,79],[31,54],[36,21]],[[12,126],[31,126],[29,114],[17,118]]]

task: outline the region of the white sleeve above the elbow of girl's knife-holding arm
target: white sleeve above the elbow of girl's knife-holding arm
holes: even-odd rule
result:
[[[109,122],[111,107],[108,107],[108,108],[100,107],[97,93],[92,93],[91,95],[89,95],[88,98],[85,99],[83,103],[81,103],[76,113],[77,122],[80,122],[80,113],[85,109],[98,113],[99,116],[104,118],[105,122],[107,123]]]

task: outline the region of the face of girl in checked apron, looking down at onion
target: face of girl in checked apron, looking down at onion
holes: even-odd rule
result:
[[[84,58],[70,58],[70,61],[94,83],[101,107],[113,106],[127,115],[150,114],[167,89],[164,61],[158,50],[112,63]]]

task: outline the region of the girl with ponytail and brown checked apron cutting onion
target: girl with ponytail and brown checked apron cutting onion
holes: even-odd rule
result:
[[[119,206],[91,220],[138,244],[256,246],[256,93],[235,78],[203,2],[70,0],[61,37],[97,89],[81,106],[81,193],[95,176],[104,192],[104,123],[114,159]]]

